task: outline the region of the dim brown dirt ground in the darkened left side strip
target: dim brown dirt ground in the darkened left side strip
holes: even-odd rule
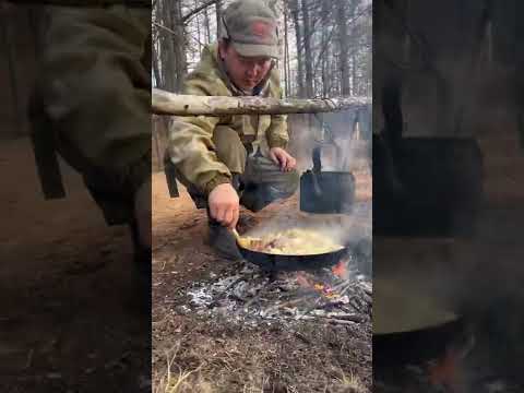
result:
[[[106,226],[63,169],[68,198],[45,201],[29,141],[0,147],[0,391],[147,391],[150,315],[128,228]]]

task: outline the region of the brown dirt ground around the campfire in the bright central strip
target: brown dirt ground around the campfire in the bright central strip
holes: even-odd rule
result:
[[[369,175],[357,198],[371,196]],[[285,213],[283,213],[285,212]],[[298,214],[297,198],[276,202],[248,227]],[[248,229],[240,228],[240,231]],[[369,392],[371,326],[301,324],[243,326],[177,311],[186,290],[238,270],[205,245],[205,211],[182,189],[169,199],[163,174],[153,176],[153,383],[155,392]]]

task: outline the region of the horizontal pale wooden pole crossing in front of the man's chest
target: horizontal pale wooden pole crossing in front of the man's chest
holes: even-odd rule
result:
[[[276,99],[192,96],[153,88],[152,111],[155,115],[174,116],[288,115],[361,109],[369,104],[371,99],[368,97]]]

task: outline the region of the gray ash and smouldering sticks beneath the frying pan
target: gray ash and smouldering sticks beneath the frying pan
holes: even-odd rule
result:
[[[195,283],[181,313],[226,317],[233,323],[252,326],[317,321],[358,325],[371,319],[372,285],[342,261],[336,269],[270,274],[245,262],[231,275]],[[343,272],[342,276],[341,271]],[[335,274],[337,273],[337,274]]]

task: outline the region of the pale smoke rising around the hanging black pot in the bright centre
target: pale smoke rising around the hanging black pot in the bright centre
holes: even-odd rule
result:
[[[253,237],[275,234],[290,228],[303,228],[318,231],[322,236],[334,239],[348,247],[359,259],[358,266],[362,273],[371,274],[371,141],[362,127],[353,131],[355,112],[341,112],[334,116],[324,115],[324,127],[329,127],[333,140],[340,148],[325,145],[322,148],[323,171],[350,171],[357,179],[356,200],[352,202],[350,212],[344,214],[314,214],[293,209],[274,209],[271,217],[261,221],[248,235]],[[309,120],[309,121],[308,121]],[[311,153],[321,134],[320,123],[307,116],[289,116],[290,134],[289,152],[297,158],[300,174],[311,169]],[[359,139],[356,139],[358,136]],[[298,199],[300,190],[298,190]],[[349,200],[350,195],[341,195]]]

